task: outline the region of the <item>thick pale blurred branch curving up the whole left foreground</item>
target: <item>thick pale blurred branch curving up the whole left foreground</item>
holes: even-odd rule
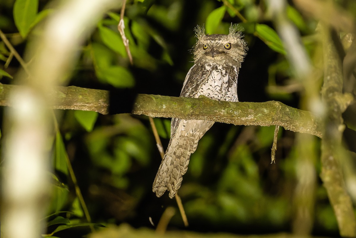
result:
[[[4,172],[2,173],[1,236],[37,238],[43,234],[49,178],[48,141],[53,98],[48,91],[72,69],[77,49],[99,17],[114,6],[114,0],[72,0],[48,19],[43,35],[31,41],[26,55],[36,58],[19,73],[4,121]],[[4,40],[4,39],[3,39]],[[5,40],[4,40],[5,42]],[[15,51],[12,51],[15,57]],[[27,69],[26,69],[27,71]]]

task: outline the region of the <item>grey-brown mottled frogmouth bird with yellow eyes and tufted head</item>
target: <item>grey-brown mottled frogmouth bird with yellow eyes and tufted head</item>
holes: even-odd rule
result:
[[[242,28],[230,25],[229,34],[205,34],[205,27],[194,29],[197,37],[193,51],[194,65],[185,77],[180,97],[204,95],[217,101],[238,102],[237,77],[248,50]],[[198,141],[215,121],[172,118],[171,139],[153,182],[152,191],[161,197],[168,190],[173,198],[187,172],[190,155]]]

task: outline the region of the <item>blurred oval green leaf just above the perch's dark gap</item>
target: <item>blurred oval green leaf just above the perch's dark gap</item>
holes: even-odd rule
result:
[[[135,79],[126,68],[121,66],[111,66],[101,69],[101,76],[103,76],[109,84],[117,88],[130,88],[135,85]]]

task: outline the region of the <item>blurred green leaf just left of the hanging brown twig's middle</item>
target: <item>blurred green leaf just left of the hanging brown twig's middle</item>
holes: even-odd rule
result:
[[[115,32],[102,25],[99,25],[98,29],[101,40],[103,40],[106,46],[108,46],[111,50],[119,53],[121,56],[127,57],[124,42],[122,42],[119,32]]]

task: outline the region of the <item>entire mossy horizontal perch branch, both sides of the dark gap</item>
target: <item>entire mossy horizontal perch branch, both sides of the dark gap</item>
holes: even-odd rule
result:
[[[1,85],[1,106],[11,106],[7,94],[16,87],[21,86]],[[106,90],[69,86],[57,87],[52,94],[56,99],[56,105],[53,106],[55,109],[89,110],[101,114],[109,112],[109,91]],[[277,101],[234,103],[218,102],[206,97],[138,94],[131,113],[150,117],[211,120],[234,125],[279,125],[287,130],[322,137],[322,123],[318,117]]]

